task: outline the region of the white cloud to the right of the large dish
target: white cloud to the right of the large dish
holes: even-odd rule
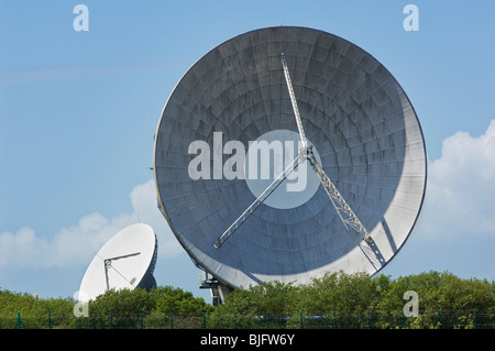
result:
[[[431,240],[495,237],[495,120],[477,138],[458,132],[429,164],[418,233]]]

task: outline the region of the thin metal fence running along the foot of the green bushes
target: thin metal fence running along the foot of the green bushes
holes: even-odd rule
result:
[[[157,314],[74,317],[0,316],[0,329],[495,329],[495,311],[425,311],[418,317],[382,311],[260,316],[242,314]]]

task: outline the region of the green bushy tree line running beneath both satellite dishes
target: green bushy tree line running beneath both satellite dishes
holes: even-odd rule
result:
[[[160,319],[169,323],[169,327],[177,320],[174,316],[195,316],[197,327],[208,322],[209,326],[231,328],[232,323],[235,326],[243,320],[257,322],[245,325],[248,327],[258,327],[277,318],[285,318],[284,323],[292,320],[295,326],[302,326],[302,319],[315,320],[318,316],[328,317],[333,314],[334,322],[336,312],[339,316],[366,316],[367,312],[370,323],[373,314],[400,316],[407,303],[404,294],[410,290],[418,296],[421,315],[436,311],[458,315],[465,312],[466,318],[471,316],[469,318],[473,319],[472,314],[477,310],[493,312],[495,316],[495,282],[460,278],[449,272],[436,271],[395,279],[386,275],[372,277],[365,273],[339,272],[314,278],[308,284],[271,282],[235,289],[218,307],[195,297],[190,292],[172,286],[160,286],[151,292],[109,290],[89,301],[87,307],[94,322],[92,328],[106,328],[109,316],[121,320],[135,320],[136,316],[141,316],[141,320]],[[65,325],[69,323],[68,320],[74,325],[76,303],[74,298],[35,300],[26,293],[0,289],[0,328],[12,328],[12,316],[18,312],[24,321],[43,320],[33,322],[34,327],[45,326],[47,318],[51,318],[50,323],[57,318],[66,318]],[[100,325],[95,323],[95,320],[101,320]]]

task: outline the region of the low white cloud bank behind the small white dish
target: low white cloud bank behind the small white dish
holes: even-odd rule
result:
[[[56,267],[88,263],[98,250],[122,228],[148,223],[158,239],[160,257],[173,257],[183,249],[173,235],[166,220],[156,207],[154,182],[134,187],[130,194],[132,213],[106,218],[95,212],[86,215],[77,224],[62,228],[51,240],[40,238],[34,230],[21,228],[15,233],[0,233],[0,267]]]

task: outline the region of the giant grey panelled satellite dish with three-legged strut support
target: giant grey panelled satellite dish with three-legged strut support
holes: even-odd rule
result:
[[[163,110],[154,169],[177,240],[232,288],[378,272],[411,232],[427,176],[392,74],[294,26],[235,36],[193,65]]]

